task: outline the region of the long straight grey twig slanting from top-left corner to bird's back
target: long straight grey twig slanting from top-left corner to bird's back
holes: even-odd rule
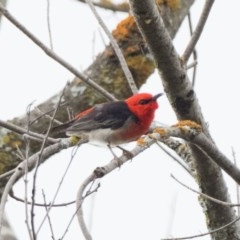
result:
[[[98,93],[104,96],[106,99],[110,101],[116,101],[117,99],[98,85],[96,82],[85,76],[83,73],[79,72],[76,68],[74,68],[71,64],[53,52],[50,48],[48,48],[43,42],[41,42],[37,37],[35,37],[27,28],[25,28],[3,5],[0,3],[0,12],[4,15],[15,27],[17,27],[22,33],[24,33],[28,38],[30,38],[39,48],[41,48],[49,57],[54,59],[60,65],[68,69],[71,73],[73,73],[76,77],[81,79],[87,85],[95,89]]]

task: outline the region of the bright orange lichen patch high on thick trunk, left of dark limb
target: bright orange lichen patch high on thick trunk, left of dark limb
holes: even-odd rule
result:
[[[131,33],[132,29],[136,28],[136,22],[133,16],[129,16],[122,20],[112,34],[116,40],[123,40],[127,38]]]

